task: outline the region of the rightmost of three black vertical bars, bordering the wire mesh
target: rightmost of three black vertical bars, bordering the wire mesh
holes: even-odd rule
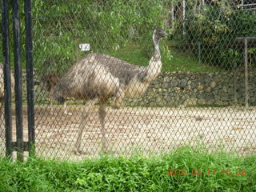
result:
[[[34,154],[34,81],[32,57],[32,19],[31,0],[25,0],[26,28],[26,90],[27,90],[27,121],[29,130],[29,153]]]

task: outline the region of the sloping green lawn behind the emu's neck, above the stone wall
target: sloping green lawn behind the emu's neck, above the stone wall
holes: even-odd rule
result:
[[[163,44],[166,44],[166,42]],[[167,47],[166,45],[164,46]],[[216,66],[199,63],[193,54],[182,53],[172,46],[168,46],[168,50],[172,56],[170,59],[166,58],[167,51],[162,47],[162,71],[216,72],[220,70]],[[129,42],[119,50],[106,51],[106,54],[139,66],[147,66],[150,60],[150,58],[143,54],[142,47],[138,42]]]

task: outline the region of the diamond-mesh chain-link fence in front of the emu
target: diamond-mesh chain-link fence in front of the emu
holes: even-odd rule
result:
[[[254,1],[34,0],[32,9],[38,155],[256,150]]]

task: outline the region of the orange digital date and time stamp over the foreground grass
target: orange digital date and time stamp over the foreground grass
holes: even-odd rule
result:
[[[246,175],[246,170],[245,169],[168,169],[167,175],[214,175],[217,172],[221,172],[222,174],[226,175]]]

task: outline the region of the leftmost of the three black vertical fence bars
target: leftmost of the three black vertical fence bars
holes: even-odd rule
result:
[[[9,47],[9,9],[8,1],[2,1],[2,54],[5,87],[5,124],[6,124],[6,156],[12,157],[12,123],[11,123],[11,84],[10,84],[10,47]]]

